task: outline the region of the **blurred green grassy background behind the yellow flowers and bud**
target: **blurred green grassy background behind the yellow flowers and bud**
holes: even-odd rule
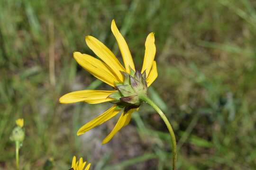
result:
[[[255,0],[0,0],[0,169],[14,169],[9,136],[18,118],[26,128],[24,170],[67,170],[73,155],[92,170],[170,169],[170,137],[149,105],[101,145],[117,118],[76,131],[110,104],[58,102],[74,90],[109,88],[73,51],[95,56],[84,41],[90,34],[121,59],[112,19],[139,69],[155,32],[158,78],[149,96],[174,127],[178,169],[255,169]]]

